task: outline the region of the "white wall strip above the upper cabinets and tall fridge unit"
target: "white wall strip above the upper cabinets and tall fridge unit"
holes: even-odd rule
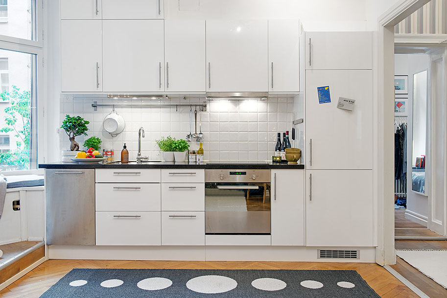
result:
[[[200,8],[179,11],[179,2]],[[307,31],[367,28],[366,0],[165,0],[165,19],[301,19]]]

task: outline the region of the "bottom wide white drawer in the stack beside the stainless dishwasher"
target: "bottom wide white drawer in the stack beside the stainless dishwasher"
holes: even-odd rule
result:
[[[160,245],[161,212],[96,212],[96,245]]]

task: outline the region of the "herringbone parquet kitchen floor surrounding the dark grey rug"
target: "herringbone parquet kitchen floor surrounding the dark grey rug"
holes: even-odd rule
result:
[[[0,291],[1,298],[38,298],[73,268],[166,269],[292,269],[356,270],[383,298],[418,298],[410,289],[376,264],[309,262],[185,262],[49,260]]]

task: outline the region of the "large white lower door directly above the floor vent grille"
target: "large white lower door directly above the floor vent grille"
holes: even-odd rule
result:
[[[306,246],[373,246],[373,172],[307,170],[306,176]]]

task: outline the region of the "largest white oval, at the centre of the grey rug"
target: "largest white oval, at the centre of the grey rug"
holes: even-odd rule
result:
[[[204,275],[189,279],[186,286],[189,290],[197,293],[218,294],[235,289],[237,282],[226,276]]]

